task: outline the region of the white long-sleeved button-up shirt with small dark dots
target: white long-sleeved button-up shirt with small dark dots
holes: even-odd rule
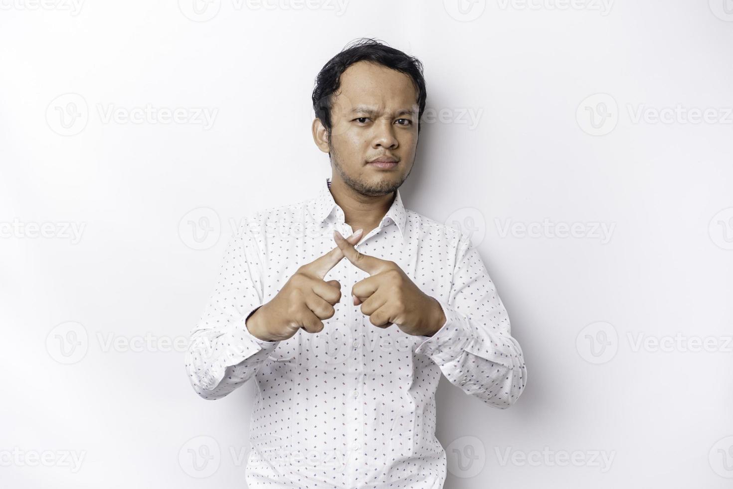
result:
[[[527,379],[507,310],[468,235],[405,209],[398,190],[379,226],[356,245],[396,262],[438,300],[446,323],[432,337],[373,326],[350,293],[368,274],[346,258],[324,279],[342,284],[342,298],[323,331],[301,328],[266,342],[245,326],[298,267],[336,246],[334,228],[353,233],[330,184],[312,199],[243,221],[191,334],[188,376],[209,400],[254,378],[250,489],[442,488],[446,452],[435,438],[441,372],[500,409],[517,400]]]

